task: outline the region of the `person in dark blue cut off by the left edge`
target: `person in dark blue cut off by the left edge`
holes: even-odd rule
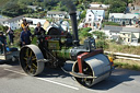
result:
[[[3,32],[0,32],[0,50],[1,54],[3,54],[5,49],[5,36],[3,35]]]

